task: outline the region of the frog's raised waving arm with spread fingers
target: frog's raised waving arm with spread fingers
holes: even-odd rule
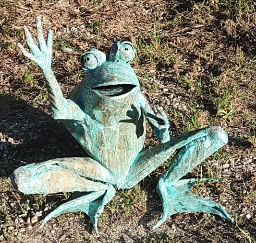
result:
[[[61,92],[60,85],[58,84],[54,73],[51,69],[51,53],[52,53],[52,31],[49,30],[47,42],[45,42],[42,26],[41,17],[37,16],[37,38],[38,44],[35,43],[31,34],[29,33],[26,26],[24,26],[24,33],[26,37],[26,43],[31,50],[28,53],[22,44],[18,43],[18,47],[21,49],[24,56],[28,57],[42,69],[47,90],[50,99],[50,106],[52,109],[52,116],[54,119],[80,119],[83,116],[83,111],[80,107],[71,99],[65,99]]]

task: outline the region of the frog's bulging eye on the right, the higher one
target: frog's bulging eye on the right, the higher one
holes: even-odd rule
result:
[[[131,42],[117,42],[112,45],[110,50],[109,60],[112,62],[125,62],[129,63],[133,60],[135,55],[135,48]]]

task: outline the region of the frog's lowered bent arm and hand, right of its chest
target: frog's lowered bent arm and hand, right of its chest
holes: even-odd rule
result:
[[[162,143],[170,141],[170,135],[168,131],[170,124],[163,109],[161,107],[157,107],[158,113],[155,114],[142,93],[140,93],[139,100],[143,113],[146,116],[146,120],[156,136],[161,140]]]

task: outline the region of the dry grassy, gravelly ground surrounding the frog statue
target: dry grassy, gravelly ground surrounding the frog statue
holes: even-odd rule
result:
[[[1,0],[0,1],[0,241],[3,243],[253,243],[256,242],[256,1],[253,0]],[[218,182],[193,191],[219,202],[234,219],[204,213],[161,216],[158,177],[170,161],[103,211],[99,236],[83,213],[67,213],[38,229],[71,194],[24,195],[8,179],[18,166],[86,156],[51,118],[40,68],[16,47],[35,17],[54,31],[52,69],[64,95],[86,75],[79,56],[108,53],[131,41],[131,63],[151,107],[162,106],[170,134],[219,125],[229,143],[187,177]],[[159,141],[148,128],[146,147]]]

